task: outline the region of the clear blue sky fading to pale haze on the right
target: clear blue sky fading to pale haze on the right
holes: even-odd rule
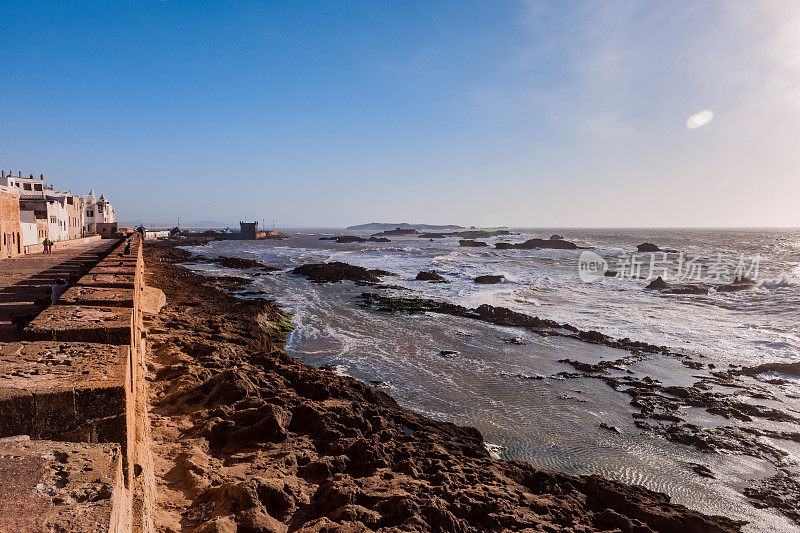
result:
[[[123,222],[800,226],[800,2],[0,0],[0,168]]]

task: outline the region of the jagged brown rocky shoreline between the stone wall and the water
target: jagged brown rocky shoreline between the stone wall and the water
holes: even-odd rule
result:
[[[145,250],[167,306],[149,318],[160,509],[174,531],[738,531],[600,476],[493,459],[437,422],[282,349],[289,317]],[[227,287],[246,281],[232,282]]]

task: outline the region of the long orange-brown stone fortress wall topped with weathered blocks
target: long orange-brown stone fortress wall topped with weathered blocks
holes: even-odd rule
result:
[[[152,530],[141,314],[163,293],[130,239],[0,343],[2,531]]]

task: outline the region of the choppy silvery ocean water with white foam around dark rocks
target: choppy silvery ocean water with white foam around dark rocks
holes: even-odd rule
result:
[[[403,406],[430,417],[475,426],[502,458],[644,485],[699,511],[748,520],[750,531],[797,530],[797,522],[776,509],[758,508],[744,492],[780,469],[796,474],[800,443],[767,439],[783,454],[777,462],[702,452],[642,431],[632,416],[637,409],[631,397],[606,382],[559,377],[572,370],[562,359],[595,363],[619,359],[624,355],[620,350],[468,318],[382,313],[358,303],[361,292],[374,288],[352,282],[313,284],[289,271],[330,261],[387,270],[396,276],[384,278],[393,287],[380,289],[385,294],[467,307],[503,306],[615,338],[665,345],[710,368],[730,368],[800,361],[800,230],[517,228],[511,235],[478,239],[489,244],[480,248],[461,247],[456,238],[411,236],[389,236],[387,243],[337,244],[320,237],[368,233],[285,231],[290,239],[214,241],[187,248],[209,258],[255,259],[280,272],[255,276],[213,263],[187,266],[207,275],[251,277],[247,291],[263,291],[294,315],[287,346],[291,355],[372,382]],[[497,242],[547,239],[551,234],[581,249],[494,248]],[[635,252],[645,242],[674,252]],[[587,251],[601,256],[617,276],[584,281],[579,265]],[[416,281],[423,270],[435,270],[448,283]],[[502,275],[503,281],[473,281],[487,274]],[[646,289],[656,275],[710,290],[705,295],[667,295]],[[754,278],[755,286],[717,290],[738,275]],[[522,344],[508,342],[512,337],[522,337]],[[442,357],[442,350],[457,355]],[[697,372],[671,357],[649,357],[626,372],[664,386],[689,386],[698,379]],[[754,382],[772,398],[764,405],[800,417],[800,379]],[[800,433],[793,422],[743,422],[700,407],[685,407],[681,413],[703,428],[746,429],[751,424],[765,431]],[[698,464],[714,478],[697,475],[693,466]]]

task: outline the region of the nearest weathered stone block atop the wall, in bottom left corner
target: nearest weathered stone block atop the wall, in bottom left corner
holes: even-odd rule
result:
[[[115,444],[0,439],[0,531],[124,531]]]

